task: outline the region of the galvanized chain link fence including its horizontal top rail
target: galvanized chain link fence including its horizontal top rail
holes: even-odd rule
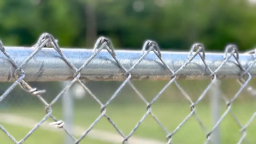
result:
[[[44,48],[44,47],[52,47],[58,53],[58,55],[52,52],[52,49]],[[57,44],[57,41],[53,38],[53,36],[47,33],[44,33],[43,35],[40,36],[36,45],[26,50],[27,52],[31,51],[31,54],[28,54],[28,53],[24,54],[24,52],[22,53],[21,52],[22,48],[20,48],[19,50],[19,47],[10,48],[10,49],[4,48],[2,43],[0,43],[0,49],[2,51],[1,59],[3,60],[0,62],[3,67],[2,72],[0,72],[0,74],[2,75],[0,80],[2,82],[15,81],[5,92],[3,92],[3,94],[0,97],[0,102],[8,98],[9,93],[12,92],[12,90],[15,88],[16,85],[20,85],[20,87],[25,92],[33,95],[34,97],[36,96],[44,105],[44,110],[45,110],[44,118],[41,119],[41,121],[38,122],[33,127],[33,129],[31,129],[26,134],[26,136],[22,138],[20,141],[16,140],[14,136],[12,136],[12,133],[8,132],[8,130],[5,129],[3,125],[0,125],[2,132],[4,132],[13,141],[13,143],[16,143],[16,144],[21,144],[24,142],[26,143],[26,140],[29,137],[33,137],[33,133],[36,131],[36,129],[41,127],[45,123],[46,119],[49,119],[49,118],[51,118],[54,121],[51,124],[56,125],[57,128],[55,127],[55,129],[62,129],[73,140],[72,143],[75,143],[75,144],[83,142],[83,139],[87,135],[90,135],[90,132],[93,132],[93,127],[101,119],[104,119],[104,118],[108,120],[108,122],[112,125],[112,127],[114,127],[116,132],[121,136],[122,138],[121,141],[117,140],[117,143],[128,143],[128,142],[136,143],[135,140],[132,139],[132,137],[136,133],[136,131],[140,129],[140,125],[143,124],[143,122],[146,121],[148,117],[152,118],[156,122],[154,124],[159,125],[159,127],[161,127],[161,129],[165,133],[164,137],[167,138],[167,140],[163,143],[168,143],[168,144],[175,143],[175,142],[172,142],[172,140],[175,139],[175,135],[179,135],[178,133],[182,131],[182,127],[184,127],[186,123],[188,123],[189,121],[192,121],[190,117],[194,117],[196,119],[197,123],[200,125],[201,129],[204,132],[204,135],[203,135],[204,142],[202,143],[213,143],[214,139],[212,138],[212,132],[216,130],[218,126],[220,126],[221,122],[223,122],[224,118],[227,117],[228,114],[232,116],[233,120],[235,120],[237,124],[236,126],[238,126],[240,129],[240,131],[237,131],[237,133],[240,133],[239,140],[237,141],[237,143],[243,143],[243,142],[255,143],[255,140],[252,140],[252,139],[247,140],[248,138],[247,128],[253,122],[253,119],[256,116],[256,113],[255,112],[252,113],[250,118],[247,119],[246,123],[241,123],[239,121],[239,117],[237,117],[233,112],[233,110],[231,109],[232,104],[236,101],[236,99],[238,99],[239,95],[242,93],[243,90],[246,90],[252,96],[255,95],[254,89],[251,86],[248,86],[248,83],[251,82],[252,77],[255,76],[256,68],[254,65],[256,61],[256,51],[254,50],[239,55],[237,47],[235,45],[230,44],[226,46],[224,54],[205,53],[204,46],[202,44],[194,44],[191,47],[189,53],[182,53],[182,52],[168,53],[168,52],[161,52],[156,42],[148,40],[144,43],[142,51],[138,54],[138,52],[135,52],[135,51],[118,51],[117,52],[113,48],[108,38],[100,37],[97,40],[94,46],[94,49],[92,51],[74,49],[74,50],[69,50],[68,52],[71,52],[71,54],[68,54],[67,56],[66,54],[64,54],[65,52],[63,52],[64,49],[62,50],[60,49],[60,47]],[[105,49],[106,51],[103,49]],[[17,55],[9,54],[9,51],[12,51],[11,52],[12,54],[16,53]],[[19,51],[21,53],[18,53]],[[75,55],[72,55],[72,52],[76,52],[76,56],[79,55],[80,57],[76,57]],[[123,55],[121,56],[118,55],[119,52],[123,53]],[[22,54],[23,56],[28,56],[24,61],[22,58],[18,57],[18,55],[22,55]],[[48,57],[45,57],[47,55]],[[40,60],[42,60],[41,59],[42,57],[45,57],[44,59],[47,59],[52,55],[54,55],[54,59],[56,61],[50,60],[48,61],[47,64],[45,63],[40,64]],[[82,58],[83,56],[86,58]],[[79,59],[80,61],[77,61],[77,59]],[[80,67],[77,68],[76,66],[79,65],[81,61],[85,61],[85,62],[82,64],[82,66],[80,65]],[[65,64],[63,64],[64,62]],[[35,63],[37,63],[37,65],[33,69],[33,66],[35,66]],[[91,63],[94,63],[94,64],[92,65]],[[10,65],[10,67],[4,69],[4,67],[6,67],[7,65]],[[45,68],[47,66],[51,67],[50,69],[54,69],[52,70],[52,73],[47,71],[47,68]],[[63,70],[63,68],[67,68],[67,69]],[[30,71],[29,74],[25,73],[27,72],[27,70]],[[204,88],[205,86],[203,87],[202,85],[200,87],[197,87],[195,84],[193,83],[189,84],[189,82],[186,82],[186,81],[181,82],[183,83],[183,85],[189,85],[187,87],[189,87],[190,90],[193,89],[195,91],[199,91],[200,89],[203,89],[203,92],[200,93],[199,96],[191,96],[191,93],[187,92],[183,88],[184,86],[181,86],[181,84],[178,83],[180,79],[195,80],[195,79],[207,79],[207,78],[210,79],[210,82],[204,81],[203,85],[208,83],[206,88]],[[169,79],[169,80],[168,80],[168,83],[165,84],[164,87],[155,95],[155,97],[153,97],[151,100],[147,100],[148,99],[147,96],[143,95],[142,92],[140,92],[140,90],[136,88],[136,87],[139,87],[140,84],[138,84],[138,82],[133,82],[132,81],[133,79],[140,79],[140,80],[143,80],[143,79],[168,80]],[[213,126],[209,127],[209,126],[206,126],[204,122],[201,120],[202,118],[200,118],[199,114],[197,113],[198,111],[197,109],[199,109],[197,108],[197,106],[200,105],[200,103],[205,103],[204,99],[207,99],[206,95],[210,91],[210,89],[215,88],[215,90],[213,91],[217,91],[220,89],[220,88],[217,88],[220,86],[218,84],[218,81],[222,79],[237,79],[236,81],[238,84],[240,84],[240,87],[238,88],[238,90],[235,90],[235,87],[233,88],[231,87],[230,89],[228,89],[228,91],[232,91],[232,92],[236,91],[236,93],[229,93],[229,94],[232,94],[232,97],[225,96],[225,94],[223,94],[222,92],[217,94],[217,95],[220,95],[220,97],[225,101],[226,107],[225,107],[225,110],[221,112],[222,115],[217,119],[216,123]],[[46,92],[45,90],[39,90],[31,86],[27,82],[25,82],[25,81],[66,81],[66,80],[71,80],[71,82],[68,84],[68,86],[62,89],[60,93],[54,96],[54,99],[51,100],[50,102],[48,102],[49,100],[45,100],[45,98],[42,96],[42,94]],[[119,82],[123,81],[123,82],[120,83],[119,87],[115,90],[115,92],[113,92],[111,97],[108,100],[106,100],[106,102],[102,102],[102,100],[100,100],[100,98],[92,92],[92,89],[96,91],[100,90],[103,93],[104,93],[104,89],[100,88],[100,86],[97,84],[94,84],[94,85],[92,84],[90,87],[89,85],[87,85],[87,81],[90,81],[90,80],[119,81]],[[53,106],[58,101],[60,101],[60,98],[64,95],[64,93],[67,92],[74,84],[80,84],[86,91],[86,95],[87,96],[90,95],[92,99],[100,105],[100,115],[92,122],[92,124],[88,127],[88,129],[85,130],[79,137],[75,135],[75,132],[80,132],[80,131],[76,130],[75,132],[70,132],[69,130],[66,129],[64,121],[57,119],[57,117],[54,116],[55,114],[53,114],[53,111],[54,111]],[[142,86],[142,87],[146,87],[146,84],[148,84],[148,82],[144,84],[145,86]],[[232,82],[232,84],[234,83]],[[119,126],[115,123],[115,121],[112,120],[111,116],[107,114],[107,111],[108,111],[107,108],[109,107],[111,102],[114,99],[116,99],[117,95],[120,94],[122,90],[124,90],[124,87],[127,85],[130,87],[130,90],[126,90],[126,93],[131,92],[131,89],[132,89],[137,94],[138,98],[144,102],[144,107],[146,109],[144,109],[144,115],[141,116],[141,119],[137,121],[137,124],[135,124],[133,128],[129,129],[131,131],[128,134],[124,134],[123,130],[119,128]],[[190,107],[188,109],[190,110],[190,112],[183,119],[180,119],[180,123],[177,124],[175,128],[172,130],[170,130],[169,126],[168,127],[165,126],[165,124],[163,124],[161,120],[158,119],[157,114],[153,112],[154,104],[161,97],[164,91],[166,91],[168,87],[171,87],[171,85],[176,86],[175,89],[179,91],[180,93],[179,95],[182,95],[183,97],[186,98],[186,100],[189,102],[189,107]],[[148,89],[150,89],[150,87],[148,86],[146,89],[147,91],[149,91]],[[249,101],[251,102],[251,100]],[[252,104],[252,103],[249,103],[249,104]],[[163,105],[169,105],[169,104],[165,103]],[[188,106],[188,104],[186,104],[186,106]],[[177,109],[175,109],[175,111],[177,111],[176,113],[177,115],[179,114],[179,107],[176,107],[176,108]],[[168,109],[161,110],[160,108],[160,111],[164,111],[164,115],[168,117],[167,116],[169,115]],[[134,113],[136,113],[136,110],[133,111],[132,115],[135,115]],[[174,117],[176,117],[176,115],[174,115]],[[1,119],[4,119],[4,116],[5,118],[7,117],[6,115],[3,115],[1,116],[2,117]],[[125,116],[127,117],[125,117],[123,121],[129,121],[129,115],[125,113]],[[170,118],[167,121],[168,123],[172,123],[172,120],[173,118]],[[154,124],[150,123],[148,127],[153,127]],[[196,128],[192,128],[190,129],[191,131],[187,131],[186,137],[189,138],[188,135],[191,132],[193,132],[195,129]],[[100,134],[98,136],[101,137]],[[142,141],[140,141],[139,143],[143,143]],[[147,139],[144,139],[144,142],[154,143],[154,140],[147,141]],[[160,143],[160,142],[158,141],[155,143]]]

